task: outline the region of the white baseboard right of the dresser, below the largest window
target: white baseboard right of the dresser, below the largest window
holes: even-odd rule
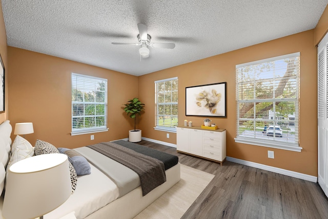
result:
[[[234,163],[238,163],[238,164],[242,164],[242,165],[246,165],[246,166],[251,166],[251,167],[255,167],[255,168],[259,168],[259,169],[264,169],[264,170],[268,170],[268,171],[271,171],[271,172],[280,173],[280,174],[283,174],[285,176],[295,177],[295,178],[298,178],[298,179],[307,180],[307,181],[314,182],[314,183],[316,183],[317,180],[318,180],[317,177],[314,177],[314,176],[311,176],[311,175],[308,175],[308,174],[295,172],[295,171],[291,171],[291,170],[286,170],[286,169],[281,169],[281,168],[268,166],[268,165],[264,165],[264,164],[254,163],[254,162],[251,162],[251,161],[240,160],[240,159],[237,159],[237,158],[227,157],[227,161],[231,161],[231,162],[234,162]]]

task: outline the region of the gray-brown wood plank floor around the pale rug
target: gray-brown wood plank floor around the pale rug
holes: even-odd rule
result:
[[[328,199],[318,183],[229,161],[220,166],[149,141],[138,144],[215,175],[181,218],[328,218]]]

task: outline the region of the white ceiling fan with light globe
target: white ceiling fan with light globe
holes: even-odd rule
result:
[[[114,45],[134,45],[134,46],[141,46],[139,49],[139,53],[142,58],[149,57],[149,49],[148,46],[153,48],[162,48],[162,49],[173,49],[175,47],[175,44],[172,42],[150,42],[150,35],[147,34],[147,26],[144,24],[139,23],[138,24],[138,42],[139,43],[126,43],[126,42],[112,42]]]

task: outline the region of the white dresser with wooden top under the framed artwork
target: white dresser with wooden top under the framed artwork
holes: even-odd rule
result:
[[[176,130],[178,152],[215,161],[222,166],[226,160],[226,129],[177,126]]]

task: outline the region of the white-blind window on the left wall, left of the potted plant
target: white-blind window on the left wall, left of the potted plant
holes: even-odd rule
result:
[[[72,73],[71,135],[107,130],[107,79]]]

